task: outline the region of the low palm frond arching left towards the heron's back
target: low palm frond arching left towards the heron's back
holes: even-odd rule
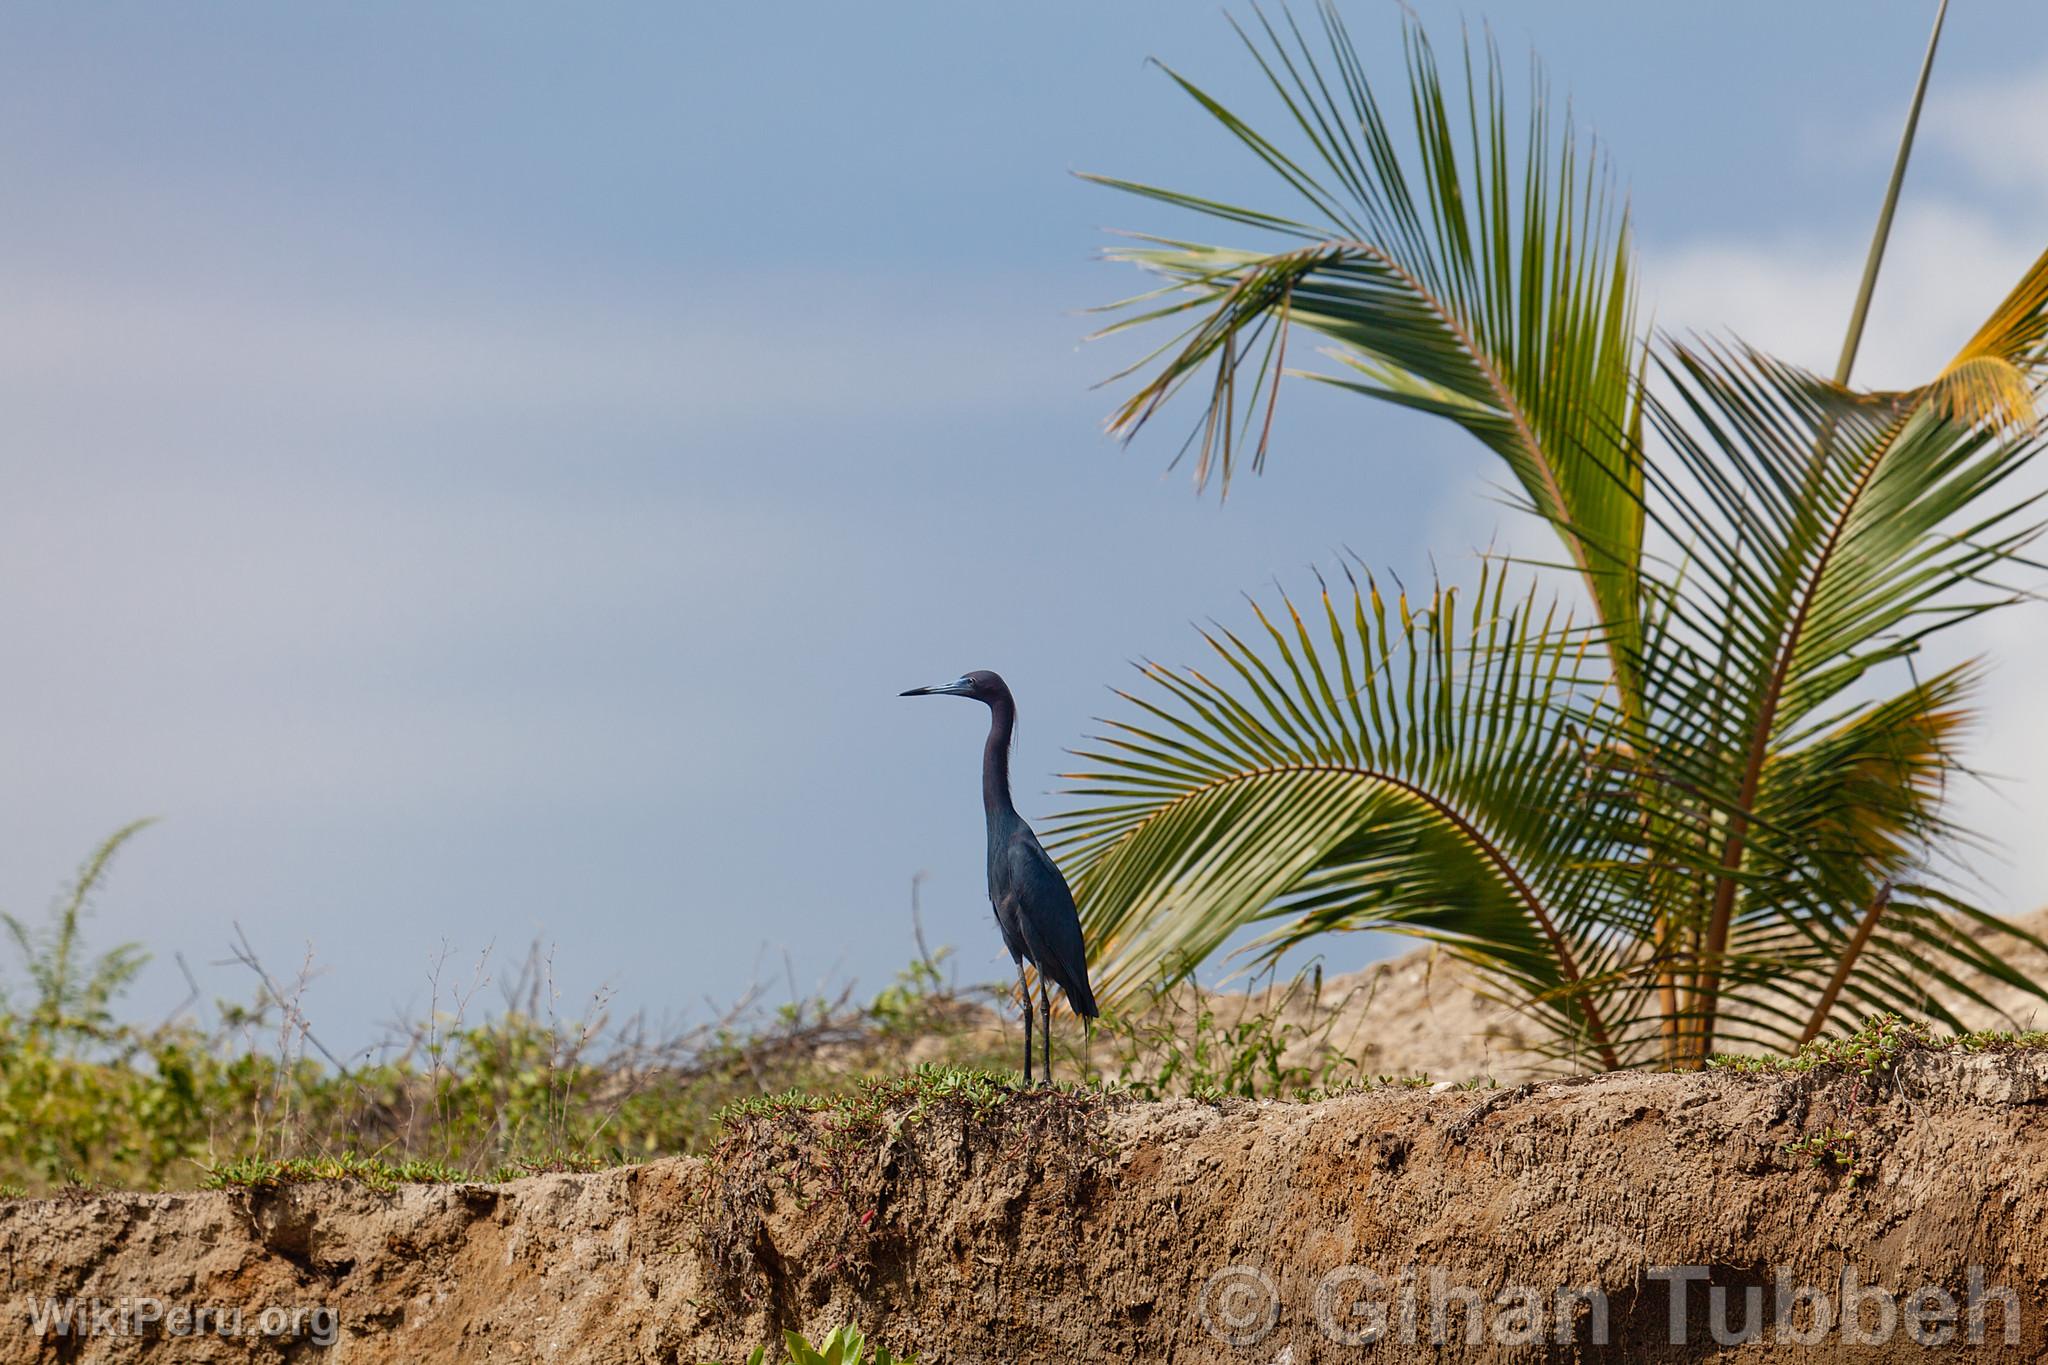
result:
[[[1325,589],[1284,612],[1255,610],[1255,645],[1204,632],[1221,679],[1147,667],[1135,714],[1069,774],[1083,804],[1053,845],[1098,993],[1184,974],[1253,925],[1264,956],[1380,927],[1464,954],[1567,1048],[1620,1064],[1585,984],[1628,923],[1634,829],[1602,794],[1593,634],[1507,596],[1495,565],[1468,606],[1450,587],[1389,604],[1368,577],[1343,610]]]

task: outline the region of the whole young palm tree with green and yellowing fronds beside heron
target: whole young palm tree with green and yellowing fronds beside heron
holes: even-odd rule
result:
[[[1124,372],[1110,428],[1196,381],[1184,450],[1227,487],[1266,463],[1309,332],[1333,368],[1303,377],[1462,426],[1565,561],[1393,602],[1348,565],[1307,608],[1206,632],[1212,675],[1147,665],[1057,831],[1104,995],[1255,925],[1266,956],[1339,929],[1444,943],[1602,1066],[1872,1009],[1954,1023],[1944,995],[1982,999],[1966,970],[2048,999],[1997,941],[2030,935],[1970,902],[1946,814],[1980,667],[1913,669],[1935,632],[2025,596],[2001,573],[2040,526],[2009,489],[2048,438],[2048,256],[1927,385],[1849,387],[1927,68],[1823,379],[1642,334],[1628,215],[1540,78],[1511,135],[1493,45],[1452,92],[1409,23],[1397,129],[1319,18],[1321,43],[1292,14],[1239,29],[1286,141],[1167,72],[1292,207],[1096,178],[1249,239],[1116,252],[1161,284],[1110,332],[1171,336]]]

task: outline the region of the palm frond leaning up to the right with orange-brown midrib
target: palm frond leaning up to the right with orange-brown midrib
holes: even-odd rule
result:
[[[2025,499],[1993,493],[2040,432],[1956,420],[1933,391],[1855,395],[1741,350],[1677,346],[1665,379],[1675,397],[1653,403],[1651,422],[1675,460],[1651,475],[1651,516],[1688,561],[1669,591],[1645,579],[1669,610],[1638,673],[1659,761],[1677,778],[1665,790],[1692,806],[1667,827],[1712,880],[1694,982],[1704,1054],[1749,907],[1800,925],[1843,913],[1827,898],[1874,876],[1853,841],[1802,837],[1802,765],[1788,755],[1825,751],[1819,737],[1860,714],[1845,698],[1872,669],[2015,600],[1993,575],[2040,526]],[[1925,843],[1913,782],[1864,784],[1855,798],[1866,827]]]

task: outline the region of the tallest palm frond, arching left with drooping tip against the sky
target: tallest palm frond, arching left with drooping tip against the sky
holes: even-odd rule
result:
[[[1317,379],[1446,415],[1507,460],[1610,630],[1626,636],[1642,536],[1628,217],[1569,117],[1552,135],[1540,76],[1526,127],[1511,133],[1499,53],[1487,45],[1475,72],[1466,51],[1460,98],[1409,25],[1411,127],[1397,133],[1335,10],[1325,4],[1321,20],[1323,57],[1290,14],[1239,31],[1292,125],[1292,151],[1167,72],[1278,176],[1296,211],[1092,176],[1276,239],[1260,250],[1141,237],[1116,252],[1167,282],[1116,305],[1124,317],[1108,332],[1184,327],[1135,366],[1149,372],[1110,428],[1137,432],[1208,370],[1196,479],[1227,485],[1247,442],[1253,467],[1264,463],[1286,338],[1309,327],[1341,362]]]

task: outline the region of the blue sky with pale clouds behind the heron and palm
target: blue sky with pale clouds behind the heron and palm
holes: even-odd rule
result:
[[[1542,51],[1661,323],[1833,358],[1931,6],[1417,8]],[[1346,12],[1397,78],[1397,8]],[[2038,4],[1956,6],[1874,383],[2048,241],[2042,53]],[[555,943],[569,1011],[702,1013],[784,954],[879,986],[915,872],[1004,976],[983,712],[895,692],[1004,671],[1044,814],[1128,659],[1339,546],[1454,571],[1503,516],[1468,442],[1337,395],[1292,391],[1223,508],[1165,432],[1100,434],[1104,229],[1171,219],[1069,172],[1272,199],[1151,55],[1260,106],[1186,4],[0,12],[0,907],[160,814],[96,919],[160,954],[139,1009],[172,952],[246,995],[240,921],[311,945],[344,1046],[492,943]],[[2048,798],[1970,800],[1995,902],[2048,898]]]

